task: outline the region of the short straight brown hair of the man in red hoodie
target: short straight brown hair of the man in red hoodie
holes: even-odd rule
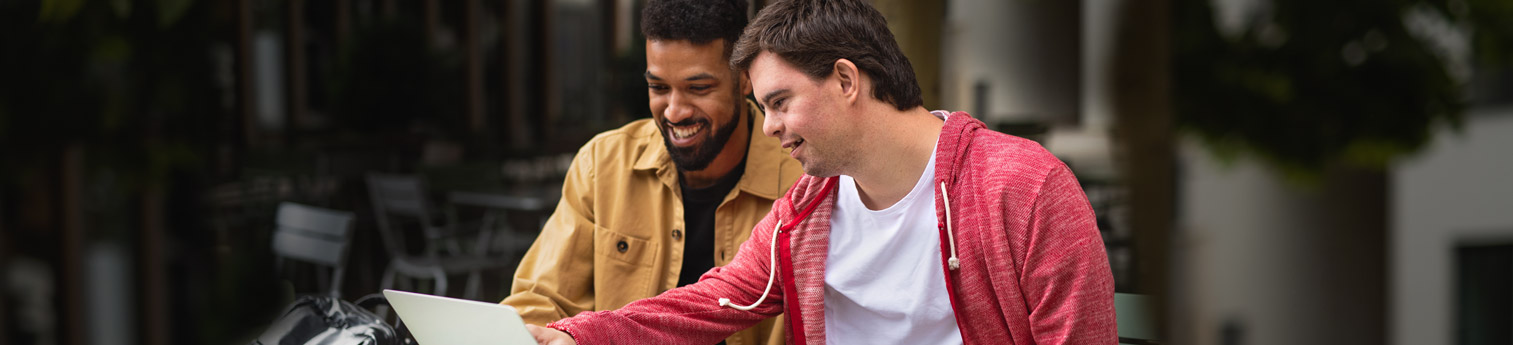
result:
[[[888,20],[862,0],[784,0],[769,5],[735,41],[731,67],[750,68],[772,51],[811,79],[825,79],[835,61],[856,64],[873,80],[871,95],[899,110],[921,106],[914,67],[888,30]]]

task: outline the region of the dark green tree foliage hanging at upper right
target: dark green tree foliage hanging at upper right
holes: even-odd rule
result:
[[[1221,35],[1209,0],[1179,0],[1174,15],[1177,124],[1215,151],[1253,153],[1295,176],[1333,163],[1384,168],[1421,148],[1440,126],[1459,127],[1465,80],[1456,80],[1433,42],[1410,33],[1422,11],[1478,32],[1475,51],[1505,56],[1507,2],[1474,3],[1451,15],[1446,2],[1272,0],[1266,24]],[[1478,12],[1486,9],[1486,12]],[[1466,11],[1460,11],[1466,12]],[[1505,18],[1505,17],[1504,17]],[[1486,41],[1487,44],[1483,44]]]

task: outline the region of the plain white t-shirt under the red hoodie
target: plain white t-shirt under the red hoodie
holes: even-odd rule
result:
[[[935,154],[903,200],[870,210],[840,177],[825,260],[825,343],[962,343],[941,269]]]

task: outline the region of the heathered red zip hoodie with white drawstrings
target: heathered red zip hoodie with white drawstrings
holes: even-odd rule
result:
[[[1039,144],[986,130],[965,112],[946,118],[932,185],[941,269],[965,343],[1117,343],[1114,275],[1077,179]],[[587,345],[716,343],[787,312],[788,343],[825,343],[835,180],[799,179],[735,259],[699,283],[548,327]],[[763,298],[772,262],[776,284],[763,303],[750,310],[717,303]]]

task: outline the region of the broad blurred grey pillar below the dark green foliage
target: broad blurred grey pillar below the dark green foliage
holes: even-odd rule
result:
[[[1336,186],[1288,182],[1253,159],[1221,162],[1191,138],[1179,160],[1171,343],[1224,343],[1230,324],[1238,343],[1371,343],[1351,339],[1380,331],[1362,322],[1380,312],[1348,298],[1369,292],[1350,281],[1380,278],[1357,271],[1380,259],[1351,242],[1359,224],[1339,225],[1348,216],[1336,213]]]

